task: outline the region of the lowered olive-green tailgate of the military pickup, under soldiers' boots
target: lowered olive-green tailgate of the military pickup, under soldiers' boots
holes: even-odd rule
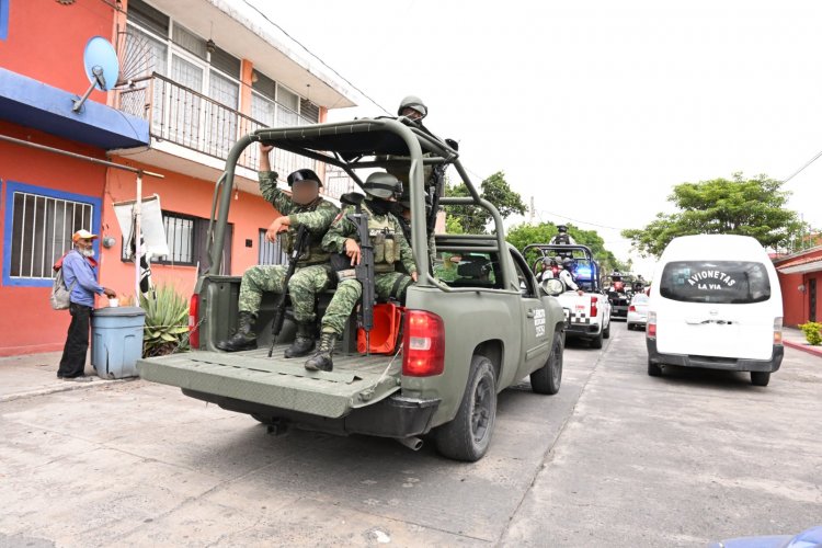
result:
[[[137,372],[153,383],[330,419],[400,389],[401,357],[391,364],[392,356],[334,355],[334,370],[326,373],[306,370],[306,358],[286,359],[283,352],[171,354],[138,361]]]

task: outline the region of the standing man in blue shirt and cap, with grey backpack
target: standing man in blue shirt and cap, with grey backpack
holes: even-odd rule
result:
[[[89,328],[91,311],[94,308],[94,295],[105,295],[114,298],[113,290],[101,286],[96,281],[93,241],[96,235],[88,230],[78,230],[71,237],[75,249],[62,258],[62,279],[71,293],[69,324],[66,346],[62,349],[62,359],[57,369],[57,377],[66,380],[89,381],[83,372],[85,369],[85,354],[89,350]]]

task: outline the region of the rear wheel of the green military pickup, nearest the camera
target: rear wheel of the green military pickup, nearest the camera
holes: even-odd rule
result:
[[[479,460],[491,444],[495,419],[496,379],[493,365],[486,356],[473,356],[457,416],[436,429],[436,449],[455,460]]]

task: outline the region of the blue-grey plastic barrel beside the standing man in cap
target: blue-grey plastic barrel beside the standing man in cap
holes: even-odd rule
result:
[[[99,308],[91,316],[91,365],[101,378],[137,376],[146,311],[139,307]]]

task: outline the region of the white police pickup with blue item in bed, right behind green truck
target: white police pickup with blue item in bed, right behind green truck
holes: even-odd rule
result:
[[[592,347],[602,349],[603,339],[610,336],[610,304],[600,285],[600,266],[591,249],[575,243],[533,243],[526,246],[523,254],[533,262],[543,290],[556,295],[564,309],[568,319],[566,336],[582,339]],[[550,263],[555,258],[560,262],[571,259],[566,261],[570,266],[567,270],[582,289],[582,295],[566,287],[559,279],[559,272],[551,271]]]

